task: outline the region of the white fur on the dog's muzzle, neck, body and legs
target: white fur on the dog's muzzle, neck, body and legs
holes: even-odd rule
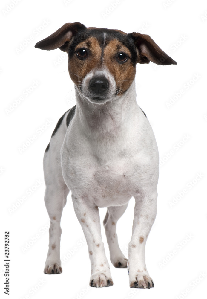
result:
[[[113,88],[112,76],[103,72]],[[89,73],[85,77],[84,92],[86,80],[92,76]],[[159,156],[154,133],[137,105],[134,82],[121,97],[111,97],[101,105],[83,94],[76,89],[76,113],[68,128],[65,115],[44,157],[45,204],[51,221],[44,271],[62,271],[60,219],[71,190],[74,210],[88,244],[90,285],[91,281],[97,287],[113,284],[97,208],[108,207],[104,225],[112,264],[128,267],[130,286],[135,282],[140,288],[152,287],[145,265],[145,243],[157,211]],[[134,223],[127,263],[118,245],[116,222],[132,196]]]

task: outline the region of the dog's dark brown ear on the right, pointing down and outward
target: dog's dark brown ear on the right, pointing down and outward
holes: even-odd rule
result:
[[[154,62],[159,65],[177,64],[171,57],[158,47],[153,39],[147,34],[133,32],[130,34],[140,55],[137,63]]]

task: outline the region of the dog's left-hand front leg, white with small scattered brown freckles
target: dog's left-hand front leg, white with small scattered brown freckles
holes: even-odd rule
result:
[[[76,216],[82,226],[88,244],[91,260],[90,286],[112,286],[113,281],[109,263],[105,255],[104,244],[101,238],[99,209],[96,205],[86,202],[83,196],[72,195]]]

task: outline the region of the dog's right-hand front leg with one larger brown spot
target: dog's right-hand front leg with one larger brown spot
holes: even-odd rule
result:
[[[134,221],[129,242],[128,274],[131,288],[154,287],[145,264],[145,244],[157,213],[157,191],[149,196],[134,196]]]

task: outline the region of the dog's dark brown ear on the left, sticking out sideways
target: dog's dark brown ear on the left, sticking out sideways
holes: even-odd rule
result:
[[[86,27],[79,22],[66,23],[50,36],[46,37],[40,42],[37,42],[35,48],[42,50],[54,50],[60,48],[60,50],[65,51],[65,48],[67,47],[71,38],[75,36],[79,30],[85,28]]]

